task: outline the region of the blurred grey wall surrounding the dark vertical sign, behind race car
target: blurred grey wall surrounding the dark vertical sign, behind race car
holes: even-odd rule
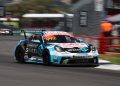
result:
[[[87,1],[87,0],[80,0]],[[79,2],[80,3],[80,2]],[[79,7],[79,6],[78,6]],[[80,26],[80,12],[87,12],[87,26]],[[99,36],[100,34],[100,22],[105,18],[104,11],[95,11],[94,0],[80,6],[74,11],[75,17],[73,18],[73,29],[71,30],[75,34],[82,34],[88,36]]]

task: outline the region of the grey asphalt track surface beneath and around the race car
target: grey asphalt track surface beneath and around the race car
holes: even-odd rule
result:
[[[14,49],[20,38],[0,36],[0,86],[120,86],[120,71],[17,63]]]

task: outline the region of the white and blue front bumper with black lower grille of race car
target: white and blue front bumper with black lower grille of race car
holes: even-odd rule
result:
[[[98,53],[51,53],[51,62],[70,65],[98,65]]]

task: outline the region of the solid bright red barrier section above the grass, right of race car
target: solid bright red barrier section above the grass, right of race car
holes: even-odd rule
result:
[[[120,37],[100,37],[99,39],[99,51],[101,54],[120,53]]]

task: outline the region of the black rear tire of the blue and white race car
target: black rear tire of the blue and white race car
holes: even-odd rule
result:
[[[20,63],[24,63],[25,62],[24,55],[25,55],[24,47],[23,46],[18,46],[15,50],[16,60]]]

